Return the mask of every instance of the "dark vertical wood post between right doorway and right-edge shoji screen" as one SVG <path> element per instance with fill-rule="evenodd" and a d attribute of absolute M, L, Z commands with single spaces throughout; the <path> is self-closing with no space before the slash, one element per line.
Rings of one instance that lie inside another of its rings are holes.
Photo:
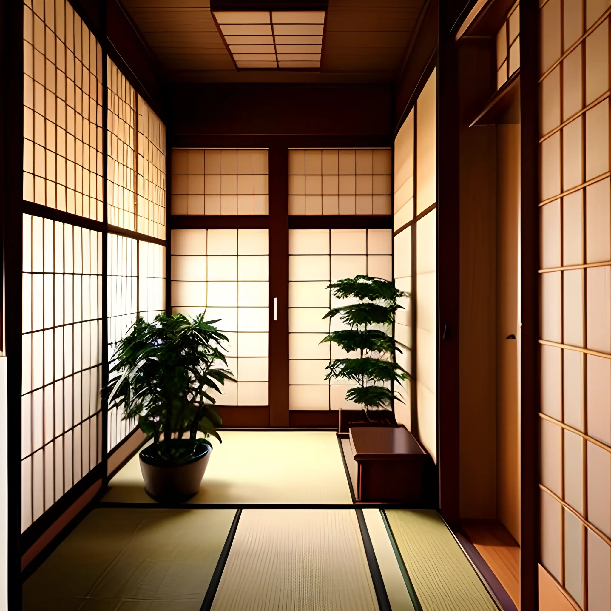
<path fill-rule="evenodd" d="M 520 608 L 539 604 L 539 9 L 520 4 Z"/>

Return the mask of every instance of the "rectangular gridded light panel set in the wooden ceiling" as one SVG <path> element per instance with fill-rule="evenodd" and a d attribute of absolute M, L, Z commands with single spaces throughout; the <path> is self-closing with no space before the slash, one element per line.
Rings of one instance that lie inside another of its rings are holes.
<path fill-rule="evenodd" d="M 320 68 L 324 10 L 219 10 L 212 14 L 240 70 Z"/>

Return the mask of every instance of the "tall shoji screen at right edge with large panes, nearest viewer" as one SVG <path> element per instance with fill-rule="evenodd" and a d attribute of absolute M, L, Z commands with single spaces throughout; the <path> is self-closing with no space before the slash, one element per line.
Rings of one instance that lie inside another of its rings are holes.
<path fill-rule="evenodd" d="M 541 5 L 541 564 L 611 608 L 609 8 Z"/>

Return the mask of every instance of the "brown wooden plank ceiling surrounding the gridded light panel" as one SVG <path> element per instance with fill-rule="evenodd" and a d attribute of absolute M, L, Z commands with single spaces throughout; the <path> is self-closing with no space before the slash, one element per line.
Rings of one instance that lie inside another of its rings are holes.
<path fill-rule="evenodd" d="M 424 0 L 329 0 L 319 71 L 236 70 L 209 0 L 123 0 L 170 81 L 390 82 Z"/>

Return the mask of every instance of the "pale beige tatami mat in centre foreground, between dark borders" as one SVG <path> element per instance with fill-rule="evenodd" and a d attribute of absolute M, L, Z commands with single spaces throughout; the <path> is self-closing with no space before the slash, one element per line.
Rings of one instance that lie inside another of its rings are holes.
<path fill-rule="evenodd" d="M 212 611 L 376 611 L 354 510 L 251 509 Z"/>

